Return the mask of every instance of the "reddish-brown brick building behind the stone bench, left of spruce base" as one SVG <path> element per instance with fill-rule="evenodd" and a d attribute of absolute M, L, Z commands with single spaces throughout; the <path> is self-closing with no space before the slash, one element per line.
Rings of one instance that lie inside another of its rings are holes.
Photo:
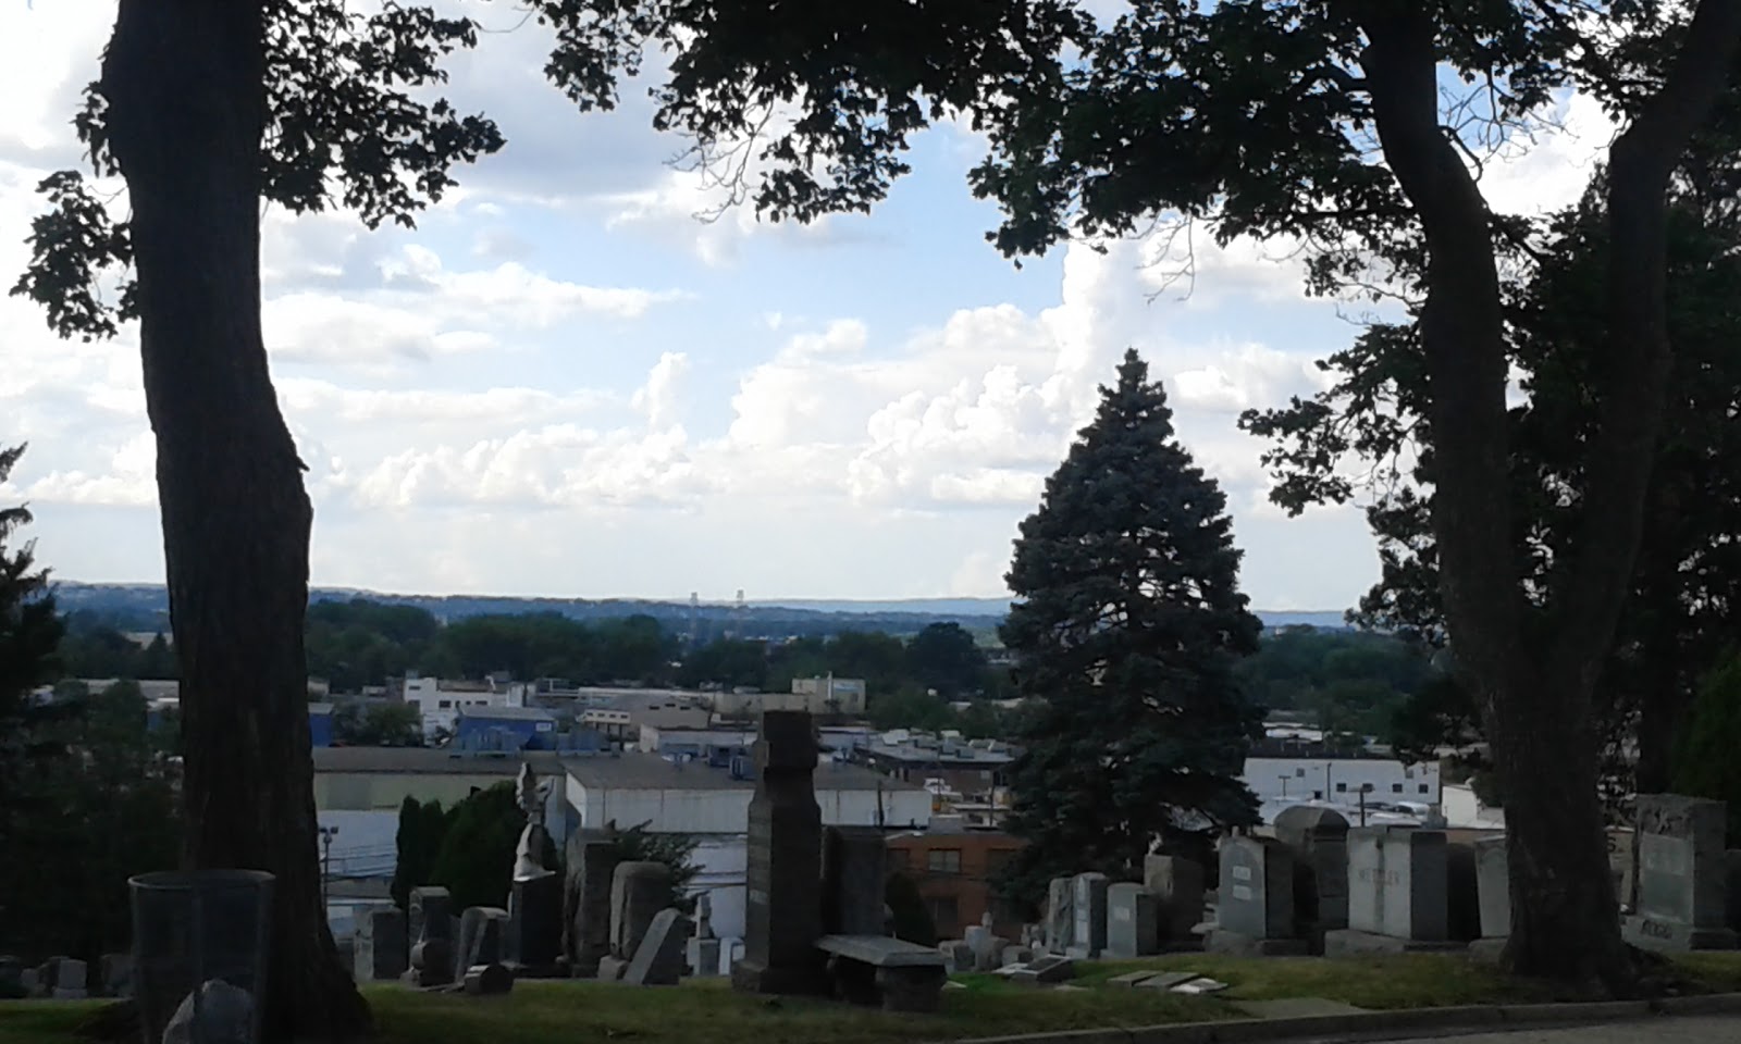
<path fill-rule="evenodd" d="M 937 938 L 959 940 L 989 910 L 992 931 L 1020 941 L 1022 919 L 994 900 L 991 880 L 1025 844 L 992 830 L 893 833 L 888 839 L 890 868 L 919 886 Z"/>

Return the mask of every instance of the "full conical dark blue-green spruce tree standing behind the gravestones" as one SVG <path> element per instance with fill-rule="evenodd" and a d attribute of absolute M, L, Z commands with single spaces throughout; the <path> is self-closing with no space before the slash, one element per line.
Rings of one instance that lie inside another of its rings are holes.
<path fill-rule="evenodd" d="M 1003 880 L 1139 877 L 1158 846 L 1257 821 L 1240 781 L 1262 713 L 1233 677 L 1260 625 L 1240 593 L 1226 498 L 1173 437 L 1135 350 L 1022 522 L 1003 642 L 1034 699 L 1012 766 Z"/>

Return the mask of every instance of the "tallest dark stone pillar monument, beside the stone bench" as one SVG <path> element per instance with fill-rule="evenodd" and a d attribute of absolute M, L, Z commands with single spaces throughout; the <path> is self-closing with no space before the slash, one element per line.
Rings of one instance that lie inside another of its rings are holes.
<path fill-rule="evenodd" d="M 822 809 L 817 736 L 801 710 L 768 710 L 756 740 L 749 816 L 743 960 L 731 985 L 752 994 L 818 994 L 829 981 L 822 938 Z"/>

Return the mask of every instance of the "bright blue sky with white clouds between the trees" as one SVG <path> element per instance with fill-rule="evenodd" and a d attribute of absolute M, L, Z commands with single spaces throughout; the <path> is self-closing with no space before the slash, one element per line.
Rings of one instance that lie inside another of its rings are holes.
<path fill-rule="evenodd" d="M 1109 3 L 1102 3 L 1107 7 Z M 1017 524 L 1135 346 L 1180 440 L 1220 482 L 1254 607 L 1344 609 L 1377 578 L 1356 506 L 1267 501 L 1248 407 L 1321 388 L 1358 308 L 1307 299 L 1278 245 L 1200 237 L 1189 292 L 1161 240 L 1069 244 L 1017 270 L 984 242 L 984 143 L 926 132 L 870 216 L 771 224 L 670 165 L 644 84 L 578 115 L 548 40 L 501 5 L 447 96 L 507 148 L 416 230 L 265 212 L 265 336 L 315 503 L 312 578 L 404 593 L 752 600 L 1003 597 Z M 1112 5 L 1116 7 L 1116 5 Z M 0 5 L 0 285 L 28 258 L 44 174 L 113 3 Z M 512 30 L 512 31 L 508 31 Z M 1610 127 L 1483 171 L 1496 209 L 1572 202 Z M 118 188 L 118 186 L 117 186 Z M 125 197 L 117 195 L 117 212 Z M 1173 251 L 1179 247 L 1175 245 Z M 1177 258 L 1177 254 L 1173 254 Z M 160 581 L 138 329 L 64 343 L 0 299 L 0 503 L 59 579 Z"/>

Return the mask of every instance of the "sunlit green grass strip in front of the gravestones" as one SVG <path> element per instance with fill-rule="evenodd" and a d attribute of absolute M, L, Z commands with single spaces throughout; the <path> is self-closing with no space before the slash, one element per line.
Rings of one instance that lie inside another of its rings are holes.
<path fill-rule="evenodd" d="M 1697 954 L 1682 969 L 1710 990 L 1741 990 L 1741 954 Z M 1137 969 L 1194 971 L 1229 983 L 1219 997 L 1186 997 L 1107 985 Z M 677 1044 L 733 1039 L 752 1044 L 912 1044 L 1005 1034 L 1241 1018 L 1240 1000 L 1323 997 L 1360 1007 L 1555 1000 L 1551 990 L 1508 980 L 1457 955 L 1240 959 L 1177 954 L 1151 960 L 1079 966 L 1086 990 L 1034 990 L 991 974 L 958 976 L 940 1014 L 884 1014 L 823 1000 L 768 1000 L 733 992 L 724 980 L 679 988 L 587 981 L 522 981 L 507 997 L 425 995 L 369 987 L 381 1044 L 573 1044 L 625 1041 Z M 70 1041 L 71 1027 L 99 1002 L 0 1002 L 0 1044 Z"/>

